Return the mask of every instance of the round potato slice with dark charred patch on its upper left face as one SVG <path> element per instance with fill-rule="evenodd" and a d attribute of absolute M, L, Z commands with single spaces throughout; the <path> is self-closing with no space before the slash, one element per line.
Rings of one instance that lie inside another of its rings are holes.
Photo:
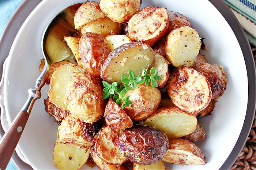
<path fill-rule="evenodd" d="M 191 67 L 178 67 L 170 74 L 167 92 L 175 106 L 196 114 L 211 101 L 211 87 L 206 77 Z"/>

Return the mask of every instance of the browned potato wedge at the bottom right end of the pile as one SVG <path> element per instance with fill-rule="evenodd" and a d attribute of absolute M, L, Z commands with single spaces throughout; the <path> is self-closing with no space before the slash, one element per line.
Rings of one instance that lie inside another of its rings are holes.
<path fill-rule="evenodd" d="M 180 165 L 204 165 L 206 157 L 199 147 L 186 139 L 170 139 L 169 149 L 162 159 Z"/>

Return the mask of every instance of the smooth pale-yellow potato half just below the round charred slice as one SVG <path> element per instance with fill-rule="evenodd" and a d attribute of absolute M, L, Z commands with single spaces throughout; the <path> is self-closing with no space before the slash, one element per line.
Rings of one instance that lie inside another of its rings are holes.
<path fill-rule="evenodd" d="M 191 134 L 196 128 L 197 119 L 176 107 L 165 106 L 157 109 L 143 124 L 156 127 L 172 139 Z"/>

